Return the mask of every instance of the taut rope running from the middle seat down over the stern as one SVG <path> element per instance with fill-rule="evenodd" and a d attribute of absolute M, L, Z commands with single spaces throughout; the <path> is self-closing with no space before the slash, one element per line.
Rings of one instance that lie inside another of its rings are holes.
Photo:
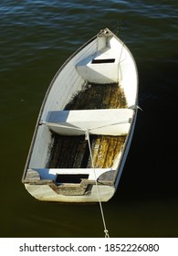
<path fill-rule="evenodd" d="M 99 194 L 99 187 L 98 187 L 98 183 L 97 183 L 97 176 L 96 176 L 95 166 L 94 166 L 94 162 L 93 162 L 93 156 L 92 156 L 92 153 L 91 153 L 91 146 L 90 146 L 90 140 L 89 140 L 89 130 L 86 130 L 86 132 L 85 132 L 85 139 L 88 141 L 88 144 L 89 144 L 89 154 L 90 154 L 90 157 L 91 157 L 91 164 L 92 164 L 92 168 L 93 168 L 94 175 L 95 175 L 95 184 L 96 184 L 96 187 L 97 187 L 97 193 L 98 193 L 98 197 L 99 197 L 99 208 L 100 208 L 100 213 L 101 213 L 102 222 L 103 222 L 103 226 L 104 226 L 105 238 L 110 238 L 109 231 L 106 227 L 106 222 L 105 222 L 105 218 L 104 218 L 102 204 L 101 204 L 101 201 L 100 201 L 100 194 Z"/>

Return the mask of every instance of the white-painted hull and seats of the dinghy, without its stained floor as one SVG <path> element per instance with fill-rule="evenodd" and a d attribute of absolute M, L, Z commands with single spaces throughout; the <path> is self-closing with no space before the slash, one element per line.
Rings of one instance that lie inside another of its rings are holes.
<path fill-rule="evenodd" d="M 70 74 L 68 76 L 68 73 Z M 65 106 L 86 84 L 118 83 L 127 108 L 64 111 Z M 137 115 L 138 76 L 130 50 L 109 29 L 79 48 L 58 70 L 42 104 L 22 182 L 39 200 L 88 203 L 113 197 L 126 161 Z M 120 153 L 110 168 L 52 168 L 47 166 L 53 145 L 52 134 L 126 136 Z M 57 182 L 57 176 L 84 176 L 81 182 Z M 112 180 L 106 177 L 112 175 Z M 88 176 L 86 178 L 86 176 Z M 97 189 L 98 187 L 98 189 Z M 99 191 L 99 193 L 98 193 Z"/>

